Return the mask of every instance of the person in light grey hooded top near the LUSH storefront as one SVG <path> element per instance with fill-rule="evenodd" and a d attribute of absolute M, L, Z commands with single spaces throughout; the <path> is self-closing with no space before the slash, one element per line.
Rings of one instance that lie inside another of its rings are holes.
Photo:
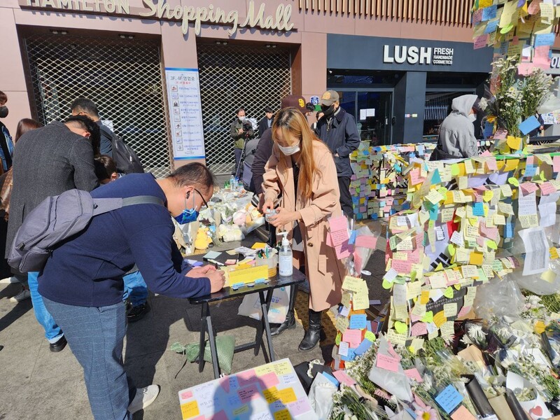
<path fill-rule="evenodd" d="M 451 113 L 443 120 L 440 137 L 430 160 L 472 158 L 478 155 L 475 126 L 479 97 L 463 94 L 453 99 Z"/>

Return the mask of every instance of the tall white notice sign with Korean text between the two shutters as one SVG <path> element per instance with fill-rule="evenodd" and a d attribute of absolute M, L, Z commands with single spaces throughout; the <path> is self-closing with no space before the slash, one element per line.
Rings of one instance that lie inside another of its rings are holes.
<path fill-rule="evenodd" d="M 204 159 L 198 69 L 165 69 L 174 160 Z"/>

